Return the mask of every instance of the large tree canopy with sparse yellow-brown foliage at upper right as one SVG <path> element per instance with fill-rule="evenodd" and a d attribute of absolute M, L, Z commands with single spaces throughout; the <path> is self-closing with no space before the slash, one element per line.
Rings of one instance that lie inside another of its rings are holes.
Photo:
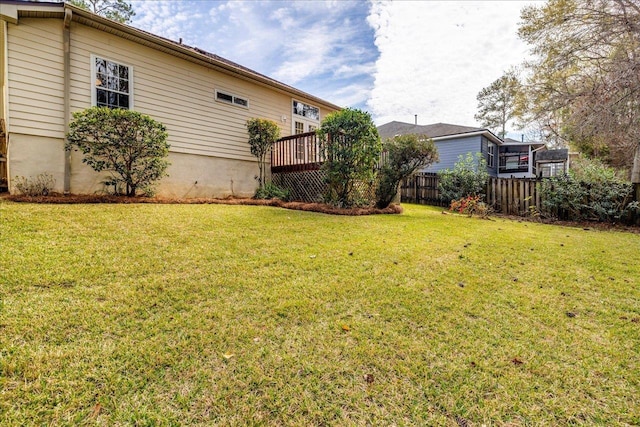
<path fill-rule="evenodd" d="M 550 0 L 522 11 L 527 120 L 640 182 L 640 4 Z M 635 159 L 635 161 L 634 161 Z"/>

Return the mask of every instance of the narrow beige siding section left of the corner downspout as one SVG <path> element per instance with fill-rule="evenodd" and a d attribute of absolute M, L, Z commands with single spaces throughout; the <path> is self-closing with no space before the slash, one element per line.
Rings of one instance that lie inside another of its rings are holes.
<path fill-rule="evenodd" d="M 8 24 L 8 120 L 11 132 L 64 137 L 62 21 Z"/>

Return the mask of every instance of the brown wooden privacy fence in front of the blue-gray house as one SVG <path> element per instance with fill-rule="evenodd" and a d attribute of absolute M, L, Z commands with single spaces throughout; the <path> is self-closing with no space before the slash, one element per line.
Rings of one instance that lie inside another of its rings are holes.
<path fill-rule="evenodd" d="M 436 173 L 420 173 L 402 183 L 403 202 L 444 206 L 438 191 Z M 525 215 L 534 207 L 540 210 L 540 180 L 535 178 L 489 178 L 486 202 L 496 212 Z"/>

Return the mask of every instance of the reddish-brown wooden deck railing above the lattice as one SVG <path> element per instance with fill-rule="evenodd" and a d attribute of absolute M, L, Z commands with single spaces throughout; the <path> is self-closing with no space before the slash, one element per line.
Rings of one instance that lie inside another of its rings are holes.
<path fill-rule="evenodd" d="M 317 170 L 323 162 L 315 132 L 280 138 L 271 149 L 271 173 Z"/>

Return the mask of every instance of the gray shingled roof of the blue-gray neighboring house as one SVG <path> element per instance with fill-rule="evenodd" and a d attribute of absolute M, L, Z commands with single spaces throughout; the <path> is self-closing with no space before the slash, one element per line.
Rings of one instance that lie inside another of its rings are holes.
<path fill-rule="evenodd" d="M 448 123 L 434 123 L 431 125 L 415 125 L 403 122 L 389 122 L 378 126 L 378 133 L 382 139 L 393 138 L 396 135 L 416 134 L 426 135 L 438 141 L 461 136 L 483 135 L 492 142 L 501 145 L 503 141 L 490 130 L 472 126 L 452 125 Z"/>

